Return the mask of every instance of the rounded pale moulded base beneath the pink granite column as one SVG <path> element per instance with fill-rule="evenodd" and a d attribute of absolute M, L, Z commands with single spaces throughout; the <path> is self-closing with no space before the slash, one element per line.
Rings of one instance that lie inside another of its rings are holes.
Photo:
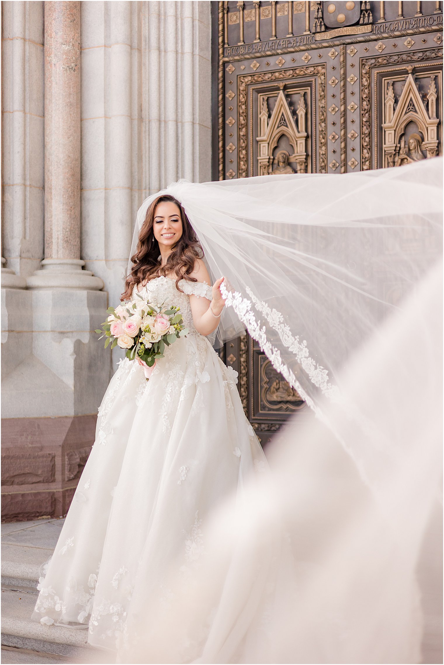
<path fill-rule="evenodd" d="M 104 287 L 100 277 L 89 270 L 82 270 L 85 262 L 80 259 L 44 259 L 43 269 L 28 277 L 29 289 L 83 289 L 100 291 Z"/>

